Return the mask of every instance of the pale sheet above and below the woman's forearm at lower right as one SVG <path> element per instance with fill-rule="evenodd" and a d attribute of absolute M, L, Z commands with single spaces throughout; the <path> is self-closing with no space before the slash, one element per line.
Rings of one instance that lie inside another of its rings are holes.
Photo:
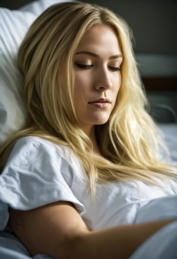
<path fill-rule="evenodd" d="M 176 195 L 149 202 L 138 212 L 135 224 L 170 218 L 177 218 Z M 164 226 L 144 241 L 129 258 L 177 258 L 177 221 Z"/>

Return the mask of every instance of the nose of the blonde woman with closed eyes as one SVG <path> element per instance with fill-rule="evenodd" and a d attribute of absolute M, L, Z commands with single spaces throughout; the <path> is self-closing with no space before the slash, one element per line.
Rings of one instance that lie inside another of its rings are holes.
<path fill-rule="evenodd" d="M 107 68 L 100 68 L 100 71 L 96 73 L 96 84 L 95 88 L 99 91 L 106 91 L 112 88 L 112 82 L 109 76 Z"/>

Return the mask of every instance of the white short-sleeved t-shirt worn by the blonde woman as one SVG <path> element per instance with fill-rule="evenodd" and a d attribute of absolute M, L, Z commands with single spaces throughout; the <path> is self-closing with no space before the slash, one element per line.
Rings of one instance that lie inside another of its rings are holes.
<path fill-rule="evenodd" d="M 144 182 L 116 182 L 96 186 L 96 198 L 77 158 L 64 146 L 39 137 L 24 137 L 14 145 L 0 175 L 0 230 L 8 222 L 8 206 L 34 209 L 55 201 L 69 201 L 91 230 L 135 223 L 137 213 L 151 200 L 177 194 L 164 181 L 160 188 Z"/>

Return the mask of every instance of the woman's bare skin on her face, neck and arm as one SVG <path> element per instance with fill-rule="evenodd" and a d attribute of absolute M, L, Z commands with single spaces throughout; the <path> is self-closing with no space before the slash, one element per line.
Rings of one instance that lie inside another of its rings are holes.
<path fill-rule="evenodd" d="M 93 141 L 94 151 L 100 154 L 94 135 L 96 124 L 106 123 L 114 108 L 121 85 L 121 73 L 111 67 L 120 67 L 117 36 L 104 25 L 92 27 L 81 40 L 77 52 L 91 51 L 99 55 L 75 56 L 75 100 L 79 124 Z M 77 64 L 93 65 L 85 70 Z M 90 102 L 108 97 L 107 108 L 98 108 Z M 69 202 L 58 201 L 45 206 L 19 211 L 9 208 L 9 225 L 32 256 L 47 254 L 54 258 L 128 258 L 150 235 L 173 220 L 122 225 L 91 231 Z"/>

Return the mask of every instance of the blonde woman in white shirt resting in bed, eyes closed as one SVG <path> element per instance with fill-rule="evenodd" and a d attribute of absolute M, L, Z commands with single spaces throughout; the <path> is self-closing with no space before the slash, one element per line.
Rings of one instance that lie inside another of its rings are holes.
<path fill-rule="evenodd" d="M 1 148 L 0 197 L 30 254 L 128 258 L 173 224 L 153 210 L 140 220 L 176 197 L 176 169 L 159 161 L 127 24 L 95 5 L 52 6 L 18 67 L 29 119 Z"/>

